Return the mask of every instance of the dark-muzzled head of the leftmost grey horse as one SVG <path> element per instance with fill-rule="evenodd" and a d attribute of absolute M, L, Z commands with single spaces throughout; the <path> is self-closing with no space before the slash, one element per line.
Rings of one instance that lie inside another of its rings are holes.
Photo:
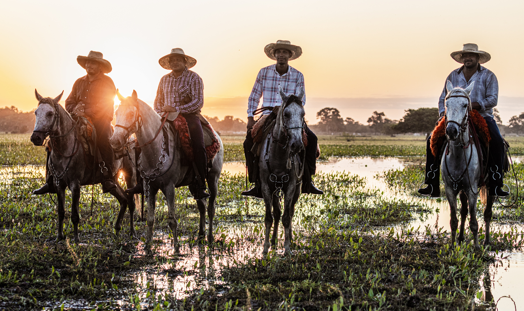
<path fill-rule="evenodd" d="M 42 146 L 43 142 L 46 140 L 46 137 L 54 131 L 54 128 L 58 127 L 58 114 L 59 107 L 58 102 L 63 95 L 60 93 L 55 98 L 51 97 L 42 97 L 35 88 L 35 96 L 38 99 L 38 108 L 35 110 L 35 129 L 31 135 L 31 142 L 35 146 Z"/>

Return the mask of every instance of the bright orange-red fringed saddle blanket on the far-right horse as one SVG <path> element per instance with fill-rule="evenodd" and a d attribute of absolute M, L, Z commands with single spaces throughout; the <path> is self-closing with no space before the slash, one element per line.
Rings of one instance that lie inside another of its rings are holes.
<path fill-rule="evenodd" d="M 489 135 L 489 128 L 486 124 L 486 120 L 477 112 L 477 110 L 472 110 L 470 112 L 470 120 L 475 126 L 475 130 L 478 135 L 478 139 L 482 141 L 483 145 L 487 147 L 489 141 L 491 141 L 491 136 Z M 439 153 L 439 150 L 444 145 L 446 140 L 446 119 L 442 118 L 437 126 L 431 132 L 430 148 L 433 156 Z"/>

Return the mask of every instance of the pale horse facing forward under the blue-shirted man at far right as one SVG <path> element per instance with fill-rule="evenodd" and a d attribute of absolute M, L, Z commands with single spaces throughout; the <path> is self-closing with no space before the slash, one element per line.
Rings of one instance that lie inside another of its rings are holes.
<path fill-rule="evenodd" d="M 478 243 L 478 222 L 477 222 L 477 190 L 481 179 L 482 163 L 481 158 L 474 148 L 473 137 L 468 126 L 469 113 L 472 109 L 470 94 L 475 82 L 465 89 L 453 87 L 447 81 L 445 97 L 446 107 L 446 152 L 442 156 L 442 180 L 444 181 L 447 201 L 451 208 L 451 243 L 455 242 L 456 230 L 459 224 L 457 219 L 457 201 L 459 194 L 461 207 L 461 226 L 457 242 L 464 241 L 464 224 L 468 210 L 470 212 L 470 230 L 473 233 L 475 248 L 480 249 Z M 484 209 L 484 221 L 486 234 L 484 246 L 489 245 L 489 225 L 492 218 L 493 196 L 487 195 L 487 186 L 481 188 L 481 195 L 486 197 Z"/>

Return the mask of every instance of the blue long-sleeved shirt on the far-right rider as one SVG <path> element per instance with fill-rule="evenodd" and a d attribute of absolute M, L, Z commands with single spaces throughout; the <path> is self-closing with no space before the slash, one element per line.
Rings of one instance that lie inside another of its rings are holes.
<path fill-rule="evenodd" d="M 440 115 L 442 115 L 445 110 L 444 98 L 446 97 L 447 93 L 447 80 L 453 84 L 453 87 L 460 86 L 462 88 L 466 88 L 473 81 L 475 81 L 475 86 L 473 87 L 473 91 L 471 91 L 470 94 L 471 102 L 477 102 L 479 105 L 481 105 L 482 109 L 478 110 L 478 113 L 481 114 L 481 116 L 493 118 L 493 107 L 497 106 L 498 101 L 497 77 L 492 71 L 484 68 L 479 64 L 477 71 L 471 76 L 470 81 L 466 82 L 464 72 L 462 72 L 463 69 L 464 66 L 453 70 L 450 75 L 447 76 L 446 82 L 444 83 L 444 90 L 442 91 L 439 99 Z"/>

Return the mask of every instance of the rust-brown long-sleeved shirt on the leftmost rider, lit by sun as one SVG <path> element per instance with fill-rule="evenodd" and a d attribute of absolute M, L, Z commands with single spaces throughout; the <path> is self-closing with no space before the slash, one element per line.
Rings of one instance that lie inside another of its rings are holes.
<path fill-rule="evenodd" d="M 72 113 L 78 104 L 84 104 L 84 113 L 87 116 L 111 122 L 115 94 L 115 84 L 109 76 L 101 74 L 89 82 L 88 76 L 85 75 L 74 82 L 71 94 L 65 99 L 65 109 Z"/>

